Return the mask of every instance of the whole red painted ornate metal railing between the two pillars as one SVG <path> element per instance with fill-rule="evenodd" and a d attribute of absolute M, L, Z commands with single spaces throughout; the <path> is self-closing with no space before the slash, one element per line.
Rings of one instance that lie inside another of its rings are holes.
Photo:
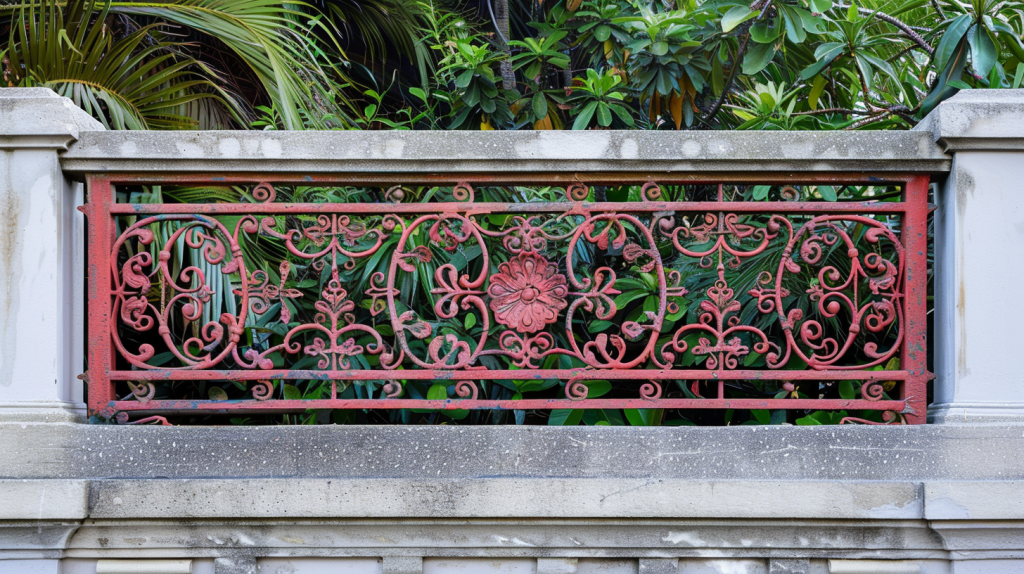
<path fill-rule="evenodd" d="M 847 184 L 870 191 L 819 198 Z M 193 192 L 131 203 L 170 185 Z M 927 193 L 926 176 L 93 176 L 90 411 L 923 423 Z"/>

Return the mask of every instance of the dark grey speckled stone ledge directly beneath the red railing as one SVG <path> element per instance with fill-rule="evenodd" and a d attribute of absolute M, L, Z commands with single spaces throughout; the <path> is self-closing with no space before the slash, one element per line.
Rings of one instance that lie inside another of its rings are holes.
<path fill-rule="evenodd" d="M 0 424 L 0 478 L 1024 480 L 1024 426 Z"/>

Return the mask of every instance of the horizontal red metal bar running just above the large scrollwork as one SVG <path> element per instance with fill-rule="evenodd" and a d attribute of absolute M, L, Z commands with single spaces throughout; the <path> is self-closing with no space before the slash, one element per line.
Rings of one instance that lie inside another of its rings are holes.
<path fill-rule="evenodd" d="M 565 213 L 575 208 L 588 212 L 729 212 L 729 213 L 882 213 L 898 214 L 907 210 L 902 202 L 601 202 L 488 204 L 481 202 L 438 204 L 115 204 L 113 215 L 155 214 L 420 214 L 420 213 Z"/>

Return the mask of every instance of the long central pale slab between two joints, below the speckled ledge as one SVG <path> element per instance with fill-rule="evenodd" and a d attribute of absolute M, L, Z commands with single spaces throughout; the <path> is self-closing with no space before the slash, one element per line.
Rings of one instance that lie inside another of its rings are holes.
<path fill-rule="evenodd" d="M 799 496 L 782 496 L 799 490 Z M 144 500 L 144 503 L 139 501 Z M 911 482 L 673 479 L 202 479 L 92 481 L 93 519 L 920 519 Z"/>

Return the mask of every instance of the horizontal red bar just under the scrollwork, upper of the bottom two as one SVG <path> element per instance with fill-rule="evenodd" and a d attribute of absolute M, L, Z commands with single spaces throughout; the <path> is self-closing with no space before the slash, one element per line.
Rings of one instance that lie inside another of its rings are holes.
<path fill-rule="evenodd" d="M 519 369 L 519 370 L 112 370 L 112 381 L 906 381 L 906 370 L 708 370 L 708 369 Z"/>

